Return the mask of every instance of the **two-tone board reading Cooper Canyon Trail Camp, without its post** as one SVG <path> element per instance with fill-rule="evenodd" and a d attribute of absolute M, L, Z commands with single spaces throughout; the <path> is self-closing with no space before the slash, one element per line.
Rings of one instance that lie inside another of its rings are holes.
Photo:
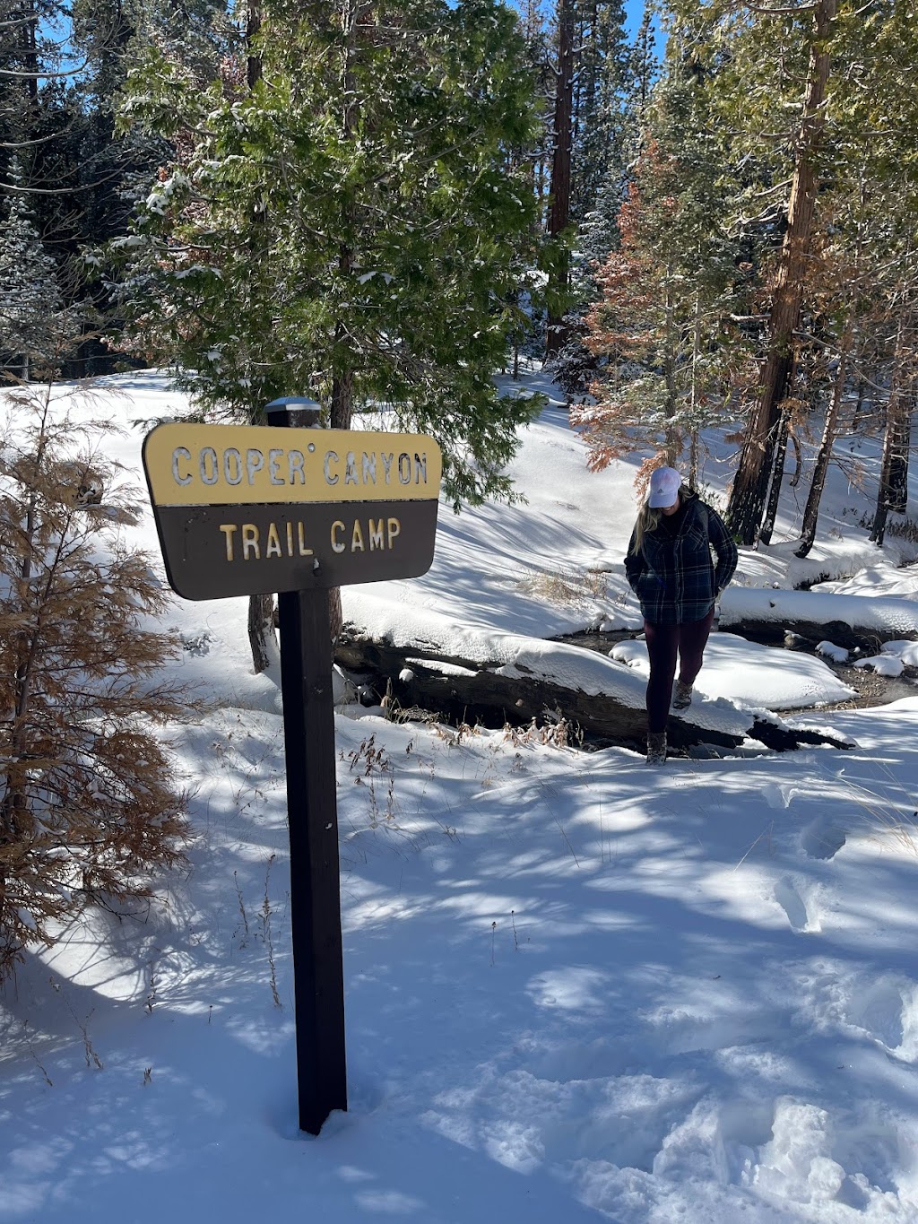
<path fill-rule="evenodd" d="M 441 455 L 425 435 L 159 425 L 143 464 L 188 600 L 416 578 L 433 559 Z"/>

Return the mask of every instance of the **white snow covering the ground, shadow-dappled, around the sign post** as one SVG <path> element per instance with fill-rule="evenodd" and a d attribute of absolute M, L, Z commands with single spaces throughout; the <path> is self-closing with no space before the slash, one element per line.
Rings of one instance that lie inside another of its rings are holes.
<path fill-rule="evenodd" d="M 136 375 L 106 379 L 103 406 L 126 424 L 182 401 Z M 106 442 L 138 480 L 142 433 Z M 622 569 L 634 466 L 589 474 L 556 400 L 513 471 L 526 504 L 442 508 L 431 572 L 346 588 L 345 616 L 639 706 L 640 643 L 606 657 L 547 641 L 639 627 Z M 728 474 L 711 439 L 715 502 Z M 723 622 L 750 605 L 793 617 L 809 595 L 826 623 L 863 624 L 883 601 L 900 628 L 858 662 L 913 666 L 914 550 L 869 545 L 868 510 L 835 470 L 802 562 L 788 504 L 776 543 L 742 553 Z M 136 536 L 157 550 L 152 518 Z M 851 695 L 831 640 L 824 661 L 723 632 L 699 718 L 805 707 L 856 747 L 745 743 L 663 769 L 341 706 L 349 1109 L 312 1138 L 296 1126 L 279 684 L 252 674 L 245 618 L 242 600 L 177 599 L 165 617 L 187 646 L 176 672 L 209 701 L 173 728 L 190 870 L 7 987 L 0 1220 L 918 1219 L 918 695 L 821 710 Z"/>

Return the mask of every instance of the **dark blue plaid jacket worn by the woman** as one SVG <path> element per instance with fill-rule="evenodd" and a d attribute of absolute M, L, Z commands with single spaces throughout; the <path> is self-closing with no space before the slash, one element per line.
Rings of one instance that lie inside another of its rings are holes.
<path fill-rule="evenodd" d="M 698 493 L 685 496 L 674 536 L 663 526 L 647 531 L 634 551 L 632 532 L 624 572 L 650 624 L 689 624 L 707 616 L 737 568 L 737 546 L 723 520 Z M 715 569 L 711 550 L 716 553 Z"/>

